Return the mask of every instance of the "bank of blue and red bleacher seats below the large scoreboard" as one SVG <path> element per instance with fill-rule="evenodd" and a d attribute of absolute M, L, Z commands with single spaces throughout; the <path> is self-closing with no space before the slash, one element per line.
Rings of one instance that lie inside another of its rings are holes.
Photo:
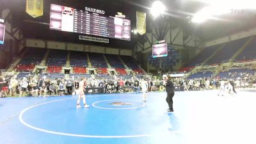
<path fill-rule="evenodd" d="M 72 73 L 74 74 L 86 74 L 88 72 L 88 56 L 92 67 L 96 68 L 97 74 L 102 74 L 102 76 L 108 76 L 108 66 L 116 70 L 116 73 L 120 76 L 127 75 L 126 67 L 124 63 L 127 64 L 136 74 L 144 74 L 144 71 L 138 67 L 136 62 L 131 56 L 121 56 L 120 60 L 118 55 L 106 54 L 106 59 L 103 54 L 99 53 L 87 53 L 87 52 L 77 52 L 58 50 L 58 49 L 40 49 L 40 48 L 26 48 L 27 52 L 24 54 L 23 58 L 19 61 L 19 65 L 16 66 L 16 70 L 20 72 L 31 72 L 36 65 L 40 65 L 42 60 L 45 58 L 46 72 L 48 74 L 54 74 L 52 77 L 61 77 L 59 75 L 63 73 L 63 67 L 67 65 L 67 60 L 70 62 L 72 67 Z M 49 53 L 47 52 L 49 51 Z M 45 55 L 47 54 L 47 55 Z M 109 65 L 107 61 L 109 62 Z M 68 65 L 69 65 L 68 64 Z M 22 75 L 23 76 L 23 75 Z"/>

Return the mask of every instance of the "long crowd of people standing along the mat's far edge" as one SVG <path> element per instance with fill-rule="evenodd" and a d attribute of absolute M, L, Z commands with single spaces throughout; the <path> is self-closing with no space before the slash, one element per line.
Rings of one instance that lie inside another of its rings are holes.
<path fill-rule="evenodd" d="M 47 77 L 27 76 L 17 79 L 15 76 L 0 78 L 1 97 L 6 96 L 35 96 L 47 97 L 49 95 L 77 95 L 79 82 L 83 77 L 49 79 Z M 253 76 L 238 77 L 237 79 L 184 79 L 172 78 L 175 90 L 214 90 L 220 89 L 221 81 L 234 85 L 236 88 L 256 88 Z M 90 77 L 86 79 L 86 88 L 104 88 L 103 93 L 141 92 L 142 84 L 147 83 L 147 92 L 164 91 L 166 79 L 153 79 L 152 77 L 122 77 L 102 78 Z"/>

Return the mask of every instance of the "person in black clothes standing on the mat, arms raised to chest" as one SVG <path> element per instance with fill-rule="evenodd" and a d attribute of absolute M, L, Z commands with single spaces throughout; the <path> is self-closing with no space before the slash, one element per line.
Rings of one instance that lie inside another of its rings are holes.
<path fill-rule="evenodd" d="M 166 82 L 166 92 L 167 92 L 167 97 L 166 97 L 166 102 L 169 105 L 169 109 L 167 110 L 168 112 L 173 112 L 173 96 L 174 96 L 174 84 L 171 81 L 171 76 L 167 75 L 167 82 Z"/>

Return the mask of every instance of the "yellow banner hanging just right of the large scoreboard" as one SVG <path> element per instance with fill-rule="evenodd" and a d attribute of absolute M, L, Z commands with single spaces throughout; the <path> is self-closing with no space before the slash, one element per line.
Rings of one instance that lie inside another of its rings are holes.
<path fill-rule="evenodd" d="M 146 16 L 147 13 L 137 12 L 137 31 L 140 35 L 144 35 L 146 33 Z"/>

